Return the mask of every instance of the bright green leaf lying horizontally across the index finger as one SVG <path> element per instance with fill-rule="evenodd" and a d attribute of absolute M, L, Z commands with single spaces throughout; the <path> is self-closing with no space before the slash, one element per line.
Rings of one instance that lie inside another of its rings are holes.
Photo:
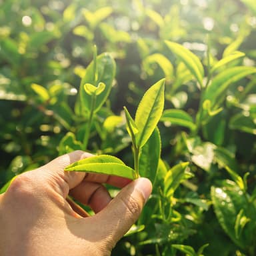
<path fill-rule="evenodd" d="M 84 171 L 136 179 L 135 171 L 131 167 L 111 155 L 97 155 L 79 160 L 66 167 L 65 171 Z"/>

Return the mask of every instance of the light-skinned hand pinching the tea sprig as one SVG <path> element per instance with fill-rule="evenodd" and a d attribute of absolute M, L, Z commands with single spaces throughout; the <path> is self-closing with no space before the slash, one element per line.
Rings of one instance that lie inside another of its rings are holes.
<path fill-rule="evenodd" d="M 117 241 L 135 223 L 151 193 L 148 179 L 63 171 L 89 157 L 74 151 L 28 171 L 0 195 L 1 256 L 111 255 Z M 120 187 L 111 199 L 102 183 Z M 68 195 L 89 205 L 87 213 Z"/>

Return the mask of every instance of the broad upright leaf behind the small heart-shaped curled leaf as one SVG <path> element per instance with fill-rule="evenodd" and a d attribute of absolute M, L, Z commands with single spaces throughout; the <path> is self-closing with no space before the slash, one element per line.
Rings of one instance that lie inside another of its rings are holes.
<path fill-rule="evenodd" d="M 108 53 L 103 53 L 97 56 L 97 70 L 98 76 L 97 81 L 95 83 L 95 73 L 94 73 L 94 64 L 93 61 L 89 64 L 85 71 L 85 76 L 81 80 L 81 86 L 79 90 L 80 95 L 80 103 L 81 109 L 80 114 L 85 115 L 91 109 L 91 95 L 88 95 L 85 90 L 83 89 L 83 85 L 85 83 L 90 83 L 91 85 L 97 85 L 99 83 L 105 84 L 104 91 L 97 95 L 96 102 L 95 102 L 95 112 L 99 111 L 101 106 L 105 103 L 109 93 L 111 91 L 113 79 L 115 77 L 115 61 Z"/>

